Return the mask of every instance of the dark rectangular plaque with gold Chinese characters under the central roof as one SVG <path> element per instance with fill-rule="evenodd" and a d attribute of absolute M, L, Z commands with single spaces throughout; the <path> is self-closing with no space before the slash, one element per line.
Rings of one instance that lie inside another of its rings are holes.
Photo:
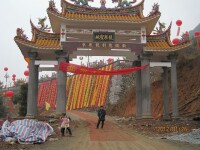
<path fill-rule="evenodd" d="M 114 32 L 93 32 L 94 42 L 114 42 L 115 33 Z"/>

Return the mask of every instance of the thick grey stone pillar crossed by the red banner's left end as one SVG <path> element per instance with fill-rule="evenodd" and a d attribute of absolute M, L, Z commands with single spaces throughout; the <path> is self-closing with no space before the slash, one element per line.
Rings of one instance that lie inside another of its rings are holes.
<path fill-rule="evenodd" d="M 56 52 L 58 59 L 58 66 L 60 62 L 66 62 L 67 53 L 58 51 Z M 66 72 L 61 70 L 57 71 L 57 94 L 56 94 L 56 113 L 66 112 Z"/>

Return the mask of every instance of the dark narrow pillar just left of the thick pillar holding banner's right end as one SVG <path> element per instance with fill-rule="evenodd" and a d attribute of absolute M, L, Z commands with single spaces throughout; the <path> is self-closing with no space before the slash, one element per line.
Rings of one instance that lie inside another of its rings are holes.
<path fill-rule="evenodd" d="M 135 61 L 135 66 L 141 66 L 141 61 Z M 136 71 L 136 119 L 142 119 L 142 78 L 141 70 Z"/>

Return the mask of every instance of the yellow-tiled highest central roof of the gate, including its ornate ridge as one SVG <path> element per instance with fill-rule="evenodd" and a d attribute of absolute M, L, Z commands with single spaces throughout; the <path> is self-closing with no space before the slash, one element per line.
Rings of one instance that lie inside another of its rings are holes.
<path fill-rule="evenodd" d="M 108 20 L 108 21 L 140 21 L 154 17 L 154 15 L 160 15 L 160 12 L 154 15 L 144 17 L 143 16 L 143 3 L 142 0 L 135 6 L 125 8 L 107 8 L 100 9 L 94 7 L 85 7 L 80 5 L 71 4 L 65 0 L 62 0 L 63 8 L 59 13 L 57 9 L 48 8 L 48 11 L 56 16 L 64 17 L 66 19 L 81 19 L 81 20 Z"/>

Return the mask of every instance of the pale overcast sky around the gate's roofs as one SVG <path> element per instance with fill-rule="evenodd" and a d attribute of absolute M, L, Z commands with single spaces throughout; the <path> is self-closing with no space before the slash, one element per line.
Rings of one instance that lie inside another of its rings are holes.
<path fill-rule="evenodd" d="M 2 0 L 1 1 L 1 21 L 0 21 L 0 81 L 5 84 L 4 67 L 8 67 L 11 82 L 12 74 L 16 78 L 25 78 L 24 71 L 27 63 L 24 60 L 19 48 L 13 38 L 16 29 L 23 28 L 25 34 L 31 39 L 30 19 L 37 25 L 38 18 L 47 16 L 46 9 L 49 0 Z M 60 10 L 60 0 L 54 0 Z M 94 0 L 98 6 L 100 0 Z M 110 1 L 110 2 L 109 2 Z M 160 5 L 161 22 L 168 26 L 172 21 L 172 37 L 176 36 L 176 20 L 182 20 L 181 33 L 194 29 L 200 23 L 200 0 L 145 0 L 144 15 L 146 16 L 152 9 L 152 5 Z M 106 7 L 112 7 L 111 0 L 107 0 Z"/>

